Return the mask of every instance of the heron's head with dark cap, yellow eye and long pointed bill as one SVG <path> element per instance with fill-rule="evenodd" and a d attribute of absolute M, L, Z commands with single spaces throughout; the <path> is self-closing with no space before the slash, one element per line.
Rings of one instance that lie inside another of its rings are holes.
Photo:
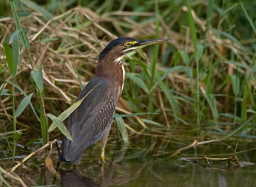
<path fill-rule="evenodd" d="M 115 59 L 120 58 L 133 50 L 146 47 L 148 45 L 153 45 L 156 43 L 162 43 L 169 41 L 168 39 L 151 39 L 151 40 L 136 40 L 135 38 L 116 38 L 112 40 L 102 52 L 99 54 L 100 59 L 104 59 L 106 56 L 114 57 Z M 115 59 L 113 59 L 115 61 Z"/>

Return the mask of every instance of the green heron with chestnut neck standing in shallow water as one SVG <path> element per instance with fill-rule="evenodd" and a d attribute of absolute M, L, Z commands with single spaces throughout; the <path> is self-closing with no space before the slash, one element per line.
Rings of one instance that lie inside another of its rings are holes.
<path fill-rule="evenodd" d="M 98 56 L 96 76 L 84 87 L 77 101 L 86 96 L 79 107 L 68 116 L 67 129 L 72 140 L 63 137 L 60 161 L 78 164 L 83 151 L 102 138 L 100 161 L 104 162 L 104 149 L 115 114 L 116 103 L 124 87 L 124 65 L 121 60 L 133 50 L 168 39 L 136 40 L 116 38 Z"/>

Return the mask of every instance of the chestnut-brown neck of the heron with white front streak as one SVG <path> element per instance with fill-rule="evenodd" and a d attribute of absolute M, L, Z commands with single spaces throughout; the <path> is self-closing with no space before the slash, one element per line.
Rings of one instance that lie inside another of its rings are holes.
<path fill-rule="evenodd" d="M 123 57 L 123 56 L 122 56 Z M 96 67 L 96 76 L 107 79 L 111 85 L 114 86 L 116 93 L 116 101 L 120 97 L 124 88 L 124 65 L 121 60 L 122 57 L 105 56 L 104 60 L 99 59 Z"/>

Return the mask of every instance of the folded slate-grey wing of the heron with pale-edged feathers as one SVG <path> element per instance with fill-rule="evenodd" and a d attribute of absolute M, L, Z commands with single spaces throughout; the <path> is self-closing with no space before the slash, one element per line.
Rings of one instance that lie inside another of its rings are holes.
<path fill-rule="evenodd" d="M 81 105 L 67 119 L 72 141 L 64 136 L 60 160 L 72 162 L 80 157 L 80 161 L 84 149 L 99 140 L 112 123 L 116 101 L 107 80 L 100 77 L 90 80 L 77 100 L 84 96 Z"/>

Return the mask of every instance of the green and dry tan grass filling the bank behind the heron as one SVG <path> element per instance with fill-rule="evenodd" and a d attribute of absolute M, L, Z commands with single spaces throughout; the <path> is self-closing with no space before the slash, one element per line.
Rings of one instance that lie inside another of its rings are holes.
<path fill-rule="evenodd" d="M 16 128 L 25 126 L 29 141 L 42 138 L 45 144 L 48 135 L 50 140 L 61 138 L 59 131 L 48 133 L 48 116 L 54 119 L 76 100 L 81 87 L 95 75 L 97 55 L 117 36 L 172 40 L 124 58 L 127 74 L 117 113 L 146 114 L 124 121 L 118 118 L 120 129 L 127 123 L 138 131 L 155 127 L 165 131 L 186 124 L 199 130 L 214 126 L 221 138 L 230 137 L 224 131 L 253 135 L 256 13 L 249 1 L 207 3 L 45 1 L 38 5 L 24 0 L 16 12 L 15 4 L 10 8 L 12 3 L 4 1 L 0 6 L 6 7 L 0 11 L 0 117 L 7 131 L 14 127 L 13 142 L 22 139 L 15 136 Z M 12 36 L 8 54 L 3 42 Z M 6 63 L 10 56 L 16 71 Z M 15 116 L 21 101 L 31 93 L 26 106 L 35 110 L 24 106 L 20 116 Z M 233 124 L 238 127 L 232 128 Z M 35 133 L 40 126 L 41 131 Z"/>

